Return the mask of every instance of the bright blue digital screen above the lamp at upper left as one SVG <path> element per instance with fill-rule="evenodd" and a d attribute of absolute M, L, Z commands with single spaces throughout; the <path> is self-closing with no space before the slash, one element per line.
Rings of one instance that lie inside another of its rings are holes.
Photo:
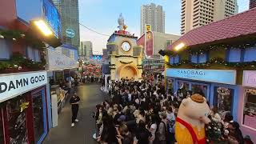
<path fill-rule="evenodd" d="M 58 9 L 50 0 L 42 0 L 42 10 L 46 22 L 48 22 L 52 30 L 54 30 L 54 35 L 60 38 L 62 34 L 62 23 Z"/>

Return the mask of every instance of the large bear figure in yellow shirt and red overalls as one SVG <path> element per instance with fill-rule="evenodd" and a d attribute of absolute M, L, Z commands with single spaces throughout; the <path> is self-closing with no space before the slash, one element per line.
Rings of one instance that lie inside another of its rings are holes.
<path fill-rule="evenodd" d="M 208 114 L 210 114 L 210 108 L 202 95 L 193 94 L 190 98 L 183 99 L 175 123 L 177 142 L 205 143 L 205 124 L 210 122 Z"/>

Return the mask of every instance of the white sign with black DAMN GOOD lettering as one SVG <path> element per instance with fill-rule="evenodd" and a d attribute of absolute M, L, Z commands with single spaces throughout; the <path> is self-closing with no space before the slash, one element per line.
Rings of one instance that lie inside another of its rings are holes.
<path fill-rule="evenodd" d="M 0 74 L 0 102 L 46 85 L 46 71 Z"/>

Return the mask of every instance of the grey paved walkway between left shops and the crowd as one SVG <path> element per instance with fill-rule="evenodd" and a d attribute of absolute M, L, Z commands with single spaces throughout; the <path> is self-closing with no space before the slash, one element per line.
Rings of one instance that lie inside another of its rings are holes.
<path fill-rule="evenodd" d="M 79 122 L 74 127 L 70 126 L 71 111 L 69 103 L 62 109 L 58 118 L 58 126 L 50 130 L 43 144 L 94 144 L 92 138 L 95 125 L 92 112 L 96 104 L 104 101 L 105 94 L 100 90 L 100 85 L 86 84 L 78 86 L 78 96 L 81 98 L 78 111 Z"/>

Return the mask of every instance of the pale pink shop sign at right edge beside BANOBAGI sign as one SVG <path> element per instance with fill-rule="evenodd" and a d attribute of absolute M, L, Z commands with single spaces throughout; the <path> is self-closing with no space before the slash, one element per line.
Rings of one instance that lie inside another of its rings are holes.
<path fill-rule="evenodd" d="M 256 87 L 256 70 L 244 70 L 242 86 Z"/>

